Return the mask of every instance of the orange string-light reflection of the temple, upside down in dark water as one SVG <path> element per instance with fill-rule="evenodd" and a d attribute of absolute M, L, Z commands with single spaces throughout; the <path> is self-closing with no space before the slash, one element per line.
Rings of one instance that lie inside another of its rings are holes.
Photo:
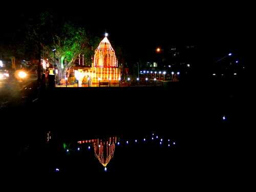
<path fill-rule="evenodd" d="M 94 147 L 95 157 L 105 167 L 114 156 L 115 144 L 118 142 L 117 137 L 109 137 L 108 139 L 90 139 L 78 141 L 79 144 L 92 143 Z"/>

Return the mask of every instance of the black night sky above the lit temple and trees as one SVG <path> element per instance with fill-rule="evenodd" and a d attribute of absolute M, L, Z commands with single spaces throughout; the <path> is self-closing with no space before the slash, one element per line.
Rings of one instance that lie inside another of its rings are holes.
<path fill-rule="evenodd" d="M 249 40 L 250 12 L 246 7 L 233 2 L 180 4 L 98 2 L 97 5 L 71 4 L 70 9 L 67 9 L 67 3 L 58 2 L 44 3 L 39 8 L 34 4 L 20 4 L 13 8 L 12 14 L 9 9 L 2 11 L 5 30 L 1 36 L 8 38 L 9 31 L 26 22 L 20 15 L 33 18 L 37 12 L 48 10 L 55 17 L 72 20 L 95 35 L 103 36 L 106 30 L 114 45 L 121 45 L 134 58 L 150 55 L 157 46 L 169 45 L 197 45 L 203 51 L 215 54 L 244 51 Z"/>

